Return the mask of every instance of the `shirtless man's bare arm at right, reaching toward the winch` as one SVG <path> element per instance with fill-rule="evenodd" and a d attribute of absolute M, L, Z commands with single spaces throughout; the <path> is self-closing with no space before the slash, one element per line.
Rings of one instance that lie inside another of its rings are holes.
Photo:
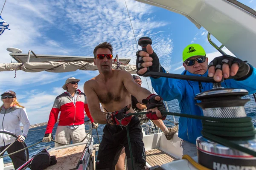
<path fill-rule="evenodd" d="M 123 83 L 128 92 L 133 95 L 138 100 L 138 102 L 143 104 L 142 100 L 146 99 L 151 94 L 151 92 L 134 82 L 134 79 L 129 72 L 120 71 L 119 74 L 121 74 Z"/>

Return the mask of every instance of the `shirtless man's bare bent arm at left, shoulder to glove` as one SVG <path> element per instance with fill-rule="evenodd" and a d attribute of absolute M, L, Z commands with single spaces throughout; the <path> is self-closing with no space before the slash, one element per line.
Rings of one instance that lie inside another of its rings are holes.
<path fill-rule="evenodd" d="M 87 104 L 93 119 L 99 124 L 106 124 L 105 112 L 102 112 L 99 106 L 99 98 L 91 86 L 91 81 L 89 80 L 84 83 L 84 93 L 87 97 Z"/>

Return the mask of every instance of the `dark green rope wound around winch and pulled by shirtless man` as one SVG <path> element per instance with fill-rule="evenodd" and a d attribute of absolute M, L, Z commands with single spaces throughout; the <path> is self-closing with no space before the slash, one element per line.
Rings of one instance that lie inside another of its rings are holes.
<path fill-rule="evenodd" d="M 242 147 L 233 141 L 255 139 L 256 130 L 250 117 L 242 118 L 214 118 L 207 116 L 195 116 L 182 113 L 161 112 L 165 115 L 180 116 L 192 119 L 202 119 L 202 135 L 214 142 L 256 156 L 256 152 Z M 140 113 L 128 113 L 128 115 L 140 115 Z M 213 122 L 209 122 L 213 121 Z"/>

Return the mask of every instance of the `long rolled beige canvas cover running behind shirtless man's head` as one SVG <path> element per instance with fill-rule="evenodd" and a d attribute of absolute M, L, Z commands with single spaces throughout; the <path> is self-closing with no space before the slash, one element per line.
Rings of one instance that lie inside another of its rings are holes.
<path fill-rule="evenodd" d="M 130 72 L 131 74 L 136 74 L 135 65 L 112 65 L 113 69 L 122 69 Z M 48 71 L 53 73 L 64 73 L 76 70 L 97 70 L 97 66 L 93 63 L 76 61 L 76 62 L 25 62 L 25 63 L 0 63 L 0 71 L 16 71 L 22 70 L 25 72 L 40 72 Z"/>

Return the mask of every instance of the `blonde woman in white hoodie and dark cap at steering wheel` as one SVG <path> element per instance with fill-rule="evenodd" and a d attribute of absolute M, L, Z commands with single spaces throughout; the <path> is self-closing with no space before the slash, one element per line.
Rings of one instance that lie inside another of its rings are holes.
<path fill-rule="evenodd" d="M 12 144 L 6 151 L 13 153 L 23 148 L 23 142 L 29 131 L 29 119 L 26 109 L 17 102 L 14 91 L 6 91 L 1 94 L 3 105 L 0 110 L 0 130 L 11 132 L 19 136 L 17 141 L 15 137 L 0 133 L 0 152 Z M 23 124 L 23 133 L 21 133 L 20 122 Z M 2 156 L 2 155 L 1 155 Z M 10 156 L 15 170 L 26 162 L 25 150 Z"/>

